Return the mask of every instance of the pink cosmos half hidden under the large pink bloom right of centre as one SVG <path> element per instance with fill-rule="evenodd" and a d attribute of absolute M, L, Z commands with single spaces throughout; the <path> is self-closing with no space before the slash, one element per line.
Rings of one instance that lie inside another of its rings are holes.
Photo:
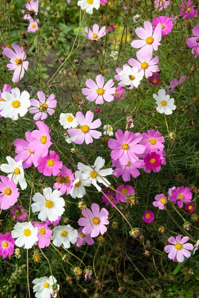
<path fill-rule="evenodd" d="M 125 165 L 121 164 L 119 160 L 112 160 L 112 166 L 116 166 L 112 174 L 117 178 L 122 175 L 124 182 L 127 182 L 130 181 L 130 175 L 132 175 L 133 178 L 137 178 L 140 175 L 138 168 L 143 169 L 144 160 L 139 159 L 136 162 L 128 161 Z"/>

